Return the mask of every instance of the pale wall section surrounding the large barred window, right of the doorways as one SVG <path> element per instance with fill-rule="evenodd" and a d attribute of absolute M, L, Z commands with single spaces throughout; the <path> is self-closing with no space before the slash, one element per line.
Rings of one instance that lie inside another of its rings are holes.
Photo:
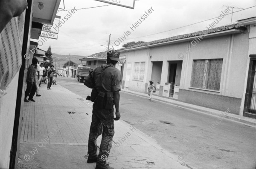
<path fill-rule="evenodd" d="M 245 32 L 203 39 L 196 46 L 191 45 L 183 89 L 242 98 L 248 42 L 248 34 Z M 189 88 L 195 59 L 223 59 L 219 92 Z"/>

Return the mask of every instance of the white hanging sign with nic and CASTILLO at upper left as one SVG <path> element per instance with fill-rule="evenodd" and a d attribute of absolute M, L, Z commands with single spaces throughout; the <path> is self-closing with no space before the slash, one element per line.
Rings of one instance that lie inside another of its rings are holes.
<path fill-rule="evenodd" d="M 48 37 L 48 38 L 51 38 L 51 39 L 58 39 L 59 27 L 55 26 L 55 28 L 53 29 L 52 26 L 53 25 L 58 25 L 58 23 L 60 23 L 60 20 L 61 20 L 61 17 L 56 16 L 52 25 L 44 24 L 43 27 L 42 27 L 42 31 L 41 31 L 40 36 Z"/>

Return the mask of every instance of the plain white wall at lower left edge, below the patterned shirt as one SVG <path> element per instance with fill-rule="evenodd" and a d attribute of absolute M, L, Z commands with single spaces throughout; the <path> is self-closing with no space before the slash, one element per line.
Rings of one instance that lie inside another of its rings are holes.
<path fill-rule="evenodd" d="M 9 168 L 12 133 L 17 98 L 17 73 L 7 89 L 7 94 L 0 98 L 0 168 Z"/>

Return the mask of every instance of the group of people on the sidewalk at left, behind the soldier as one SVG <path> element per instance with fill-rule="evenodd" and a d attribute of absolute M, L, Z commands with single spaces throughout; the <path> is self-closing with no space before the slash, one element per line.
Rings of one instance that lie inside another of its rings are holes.
<path fill-rule="evenodd" d="M 27 77 L 26 77 L 26 91 L 25 91 L 25 102 L 35 102 L 33 99 L 35 93 L 37 97 L 40 97 L 40 89 L 42 82 L 47 83 L 47 89 L 51 89 L 52 86 L 52 78 L 57 78 L 57 73 L 53 69 L 54 66 L 51 65 L 50 68 L 48 66 L 44 67 L 44 64 L 38 64 L 38 59 L 34 57 L 32 59 L 32 64 L 28 68 Z M 56 83 L 56 80 L 54 82 Z M 29 98 L 27 99 L 27 97 Z"/>

